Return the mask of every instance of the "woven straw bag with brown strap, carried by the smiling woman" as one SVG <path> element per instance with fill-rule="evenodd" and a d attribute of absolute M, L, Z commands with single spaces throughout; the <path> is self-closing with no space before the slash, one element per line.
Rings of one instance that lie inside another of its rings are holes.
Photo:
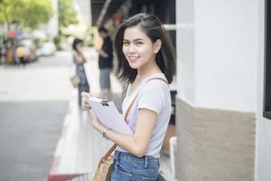
<path fill-rule="evenodd" d="M 163 78 L 152 78 L 149 81 L 151 81 L 151 80 L 165 81 Z M 167 81 L 165 81 L 165 82 L 167 83 Z M 135 99 L 137 98 L 137 95 L 135 96 L 134 100 L 130 103 L 128 109 L 126 110 L 125 121 L 127 119 L 127 116 L 129 114 L 133 104 L 134 104 Z M 93 181 L 110 181 L 111 180 L 111 172 L 112 172 L 112 167 L 113 167 L 113 162 L 114 162 L 114 154 L 115 154 L 116 148 L 117 148 L 117 144 L 114 144 L 107 151 L 107 154 L 99 160 L 98 167 L 96 168 Z"/>

